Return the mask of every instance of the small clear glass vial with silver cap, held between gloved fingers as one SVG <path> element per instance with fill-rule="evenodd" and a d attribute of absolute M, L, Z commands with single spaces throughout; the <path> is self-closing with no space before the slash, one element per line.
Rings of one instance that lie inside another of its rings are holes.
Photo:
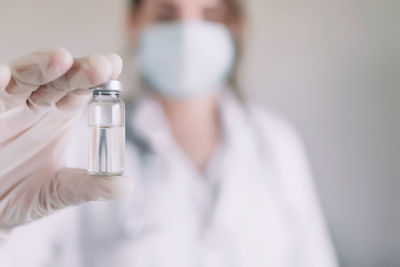
<path fill-rule="evenodd" d="M 124 172 L 125 104 L 120 99 L 119 80 L 90 88 L 89 166 L 90 175 L 114 176 Z"/>

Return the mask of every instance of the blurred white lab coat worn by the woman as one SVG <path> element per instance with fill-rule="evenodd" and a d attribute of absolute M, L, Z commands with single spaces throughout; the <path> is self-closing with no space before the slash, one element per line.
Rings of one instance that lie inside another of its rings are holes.
<path fill-rule="evenodd" d="M 199 173 L 160 106 L 141 98 L 127 113 L 135 193 L 20 227 L 0 249 L 0 266 L 337 266 L 295 132 L 227 92 L 220 115 L 223 142 Z M 85 162 L 86 138 L 77 136 L 73 166 Z"/>

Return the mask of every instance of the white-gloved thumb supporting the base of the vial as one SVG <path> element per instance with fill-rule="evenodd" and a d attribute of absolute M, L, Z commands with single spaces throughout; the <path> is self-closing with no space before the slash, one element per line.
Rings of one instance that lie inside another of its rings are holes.
<path fill-rule="evenodd" d="M 92 176 L 84 169 L 61 169 L 54 181 L 59 208 L 93 200 L 112 200 L 133 191 L 127 176 Z"/>

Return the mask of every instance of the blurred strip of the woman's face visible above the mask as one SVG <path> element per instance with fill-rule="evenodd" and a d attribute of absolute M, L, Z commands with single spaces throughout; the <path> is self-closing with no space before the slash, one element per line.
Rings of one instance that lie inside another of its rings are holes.
<path fill-rule="evenodd" d="M 206 20 L 224 23 L 228 12 L 224 0 L 142 0 L 131 15 L 129 34 L 143 27 L 173 21 Z"/>

